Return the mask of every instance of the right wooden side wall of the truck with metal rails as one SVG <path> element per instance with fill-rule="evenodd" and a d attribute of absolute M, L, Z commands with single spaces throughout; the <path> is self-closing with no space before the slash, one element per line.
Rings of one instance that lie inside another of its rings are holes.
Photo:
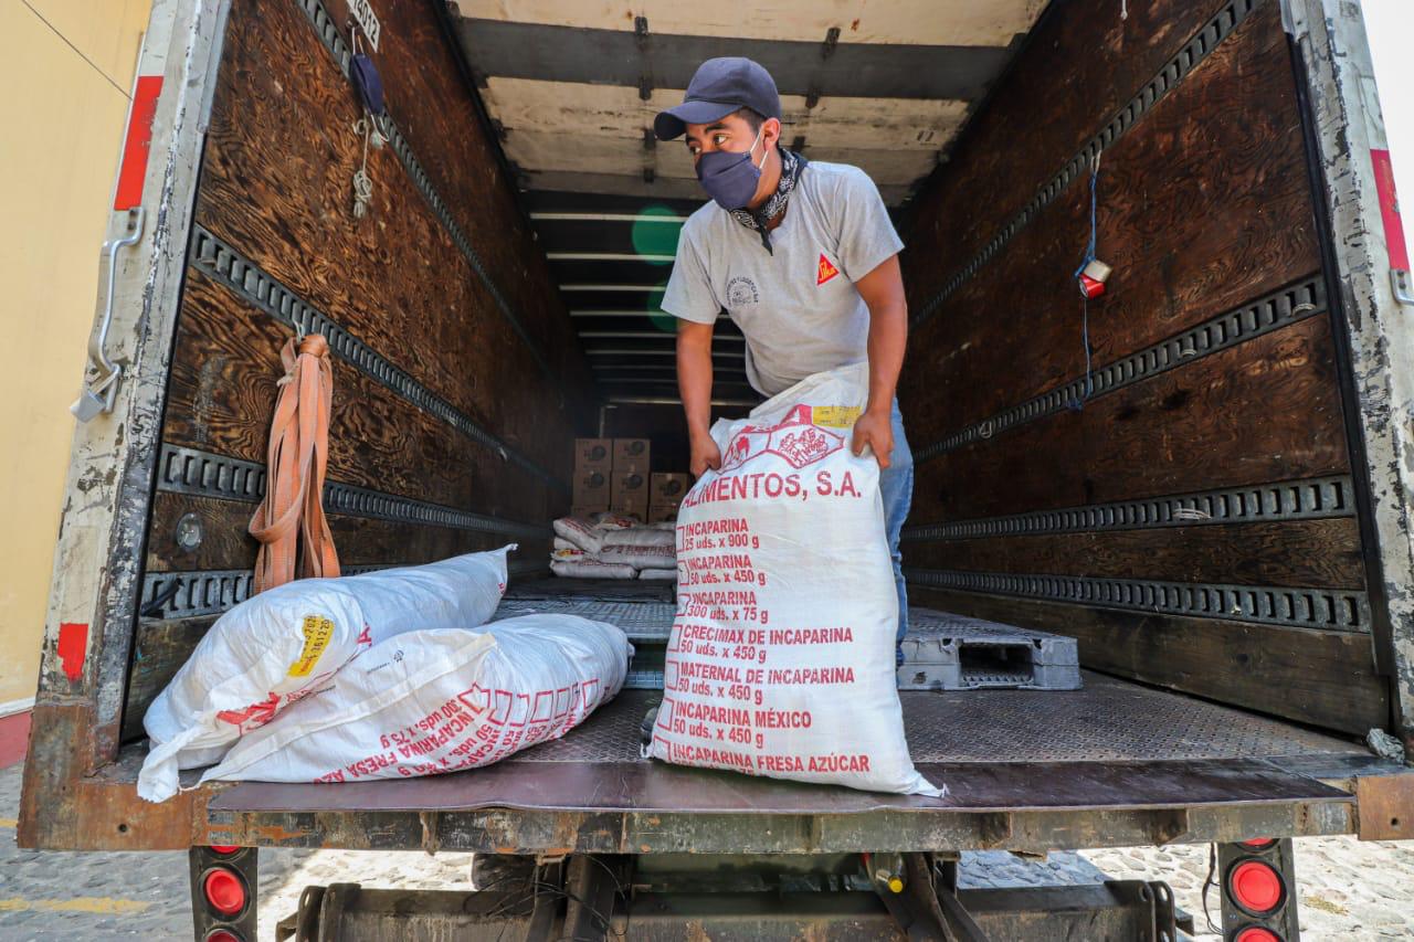
<path fill-rule="evenodd" d="M 915 601 L 1076 635 L 1102 670 L 1383 727 L 1278 3 L 1052 14 L 904 233 Z M 1086 306 L 1099 150 L 1114 273 Z"/>

